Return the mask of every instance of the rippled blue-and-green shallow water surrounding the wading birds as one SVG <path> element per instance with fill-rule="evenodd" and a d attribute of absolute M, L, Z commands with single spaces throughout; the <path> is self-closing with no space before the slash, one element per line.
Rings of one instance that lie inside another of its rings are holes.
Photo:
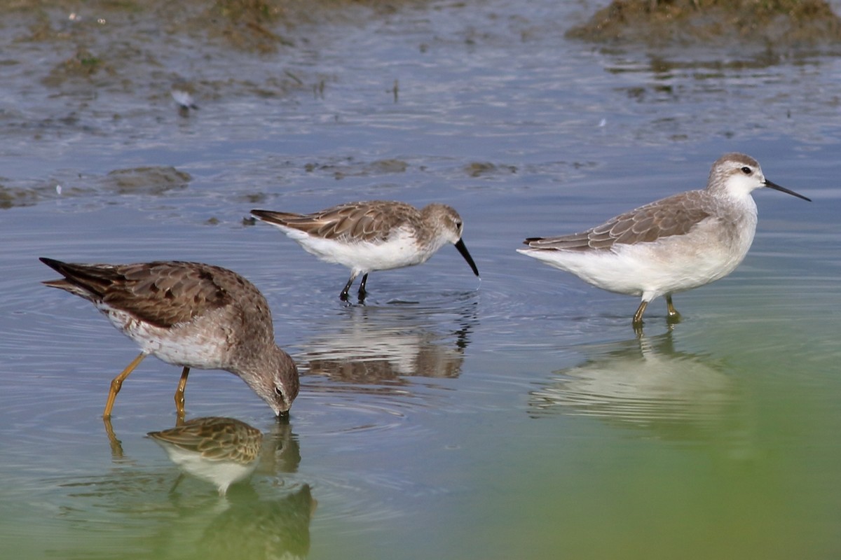
<path fill-rule="evenodd" d="M 593 9 L 432 3 L 171 56 L 187 117 L 168 74 L 56 91 L 23 70 L 38 48 L 4 55 L 0 556 L 837 556 L 841 62 L 563 39 Z M 224 86 L 286 71 L 298 91 Z M 756 192 L 747 259 L 675 296 L 674 327 L 655 301 L 637 338 L 633 298 L 514 251 L 703 186 L 733 150 L 813 202 Z M 456 207 L 482 279 L 445 247 L 346 306 L 346 270 L 244 221 L 368 198 Z M 39 256 L 201 260 L 264 292 L 304 374 L 288 424 L 230 374 L 187 390 L 188 417 L 266 434 L 249 482 L 173 488 L 145 434 L 174 425 L 178 373 L 155 359 L 108 432 L 135 347 L 40 285 Z"/>

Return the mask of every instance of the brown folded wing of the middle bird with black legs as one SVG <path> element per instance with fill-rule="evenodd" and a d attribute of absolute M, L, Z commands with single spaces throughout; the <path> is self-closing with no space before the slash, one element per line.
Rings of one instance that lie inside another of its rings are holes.
<path fill-rule="evenodd" d="M 367 201 L 340 204 L 312 214 L 266 210 L 254 211 L 254 214 L 266 222 L 326 239 L 378 242 L 388 239 L 393 228 L 417 211 L 402 202 Z"/>

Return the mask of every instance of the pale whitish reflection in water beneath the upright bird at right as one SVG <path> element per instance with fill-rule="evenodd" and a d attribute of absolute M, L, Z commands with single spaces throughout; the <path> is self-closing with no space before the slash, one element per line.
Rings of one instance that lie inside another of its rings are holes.
<path fill-rule="evenodd" d="M 587 352 L 594 356 L 530 392 L 532 416 L 595 416 L 677 439 L 708 437 L 740 422 L 732 376 L 715 359 L 675 351 L 671 329 Z"/>

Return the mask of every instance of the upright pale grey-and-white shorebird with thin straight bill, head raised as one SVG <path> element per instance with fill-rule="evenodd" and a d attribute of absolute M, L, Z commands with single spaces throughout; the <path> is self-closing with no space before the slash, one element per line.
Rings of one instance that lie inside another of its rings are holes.
<path fill-rule="evenodd" d="M 528 238 L 528 249 L 517 251 L 603 290 L 641 296 L 634 327 L 658 296 L 665 296 L 669 320 L 676 322 L 672 294 L 727 276 L 748 253 L 756 231 L 750 193 L 759 187 L 810 201 L 765 179 L 754 158 L 724 154 L 712 165 L 706 189 L 651 202 L 585 232 Z"/>

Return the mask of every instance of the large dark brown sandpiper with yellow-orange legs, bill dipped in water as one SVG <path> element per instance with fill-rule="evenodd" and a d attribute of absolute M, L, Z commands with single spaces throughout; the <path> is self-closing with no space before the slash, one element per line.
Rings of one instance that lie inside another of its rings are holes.
<path fill-rule="evenodd" d="M 91 301 L 140 355 L 111 381 L 103 413 L 111 416 L 123 381 L 145 356 L 182 366 L 175 393 L 184 416 L 190 368 L 238 375 L 278 416 L 298 395 L 298 369 L 274 342 L 266 298 L 241 275 L 219 266 L 180 261 L 137 264 L 68 264 L 41 261 L 64 278 L 44 282 Z"/>

